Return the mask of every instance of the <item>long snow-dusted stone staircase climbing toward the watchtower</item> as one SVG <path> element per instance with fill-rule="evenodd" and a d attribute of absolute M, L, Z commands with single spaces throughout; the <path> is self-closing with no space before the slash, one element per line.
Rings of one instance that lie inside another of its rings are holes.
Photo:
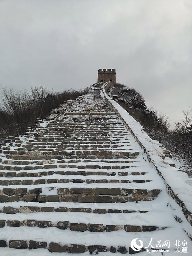
<path fill-rule="evenodd" d="M 11 248 L 15 255 L 21 251 L 16 249 L 39 254 L 44 249 L 46 255 L 132 254 L 130 242 L 136 237 L 144 244 L 151 237 L 188 240 L 173 210 L 178 205 L 111 112 L 101 85 L 93 84 L 87 95 L 53 109 L 23 136 L 4 141 L 2 255 Z M 145 248 L 140 252 L 148 255 Z"/>

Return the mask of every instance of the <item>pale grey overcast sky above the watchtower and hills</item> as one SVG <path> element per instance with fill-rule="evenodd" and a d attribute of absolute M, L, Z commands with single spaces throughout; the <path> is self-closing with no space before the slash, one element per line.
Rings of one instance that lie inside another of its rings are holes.
<path fill-rule="evenodd" d="M 180 121 L 192 105 L 192 1 L 0 0 L 3 87 L 79 89 L 99 68 Z"/>

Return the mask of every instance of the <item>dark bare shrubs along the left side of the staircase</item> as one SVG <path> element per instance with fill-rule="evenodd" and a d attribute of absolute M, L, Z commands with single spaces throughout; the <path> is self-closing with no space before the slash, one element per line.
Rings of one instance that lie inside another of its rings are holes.
<path fill-rule="evenodd" d="M 0 142 L 7 136 L 23 134 L 36 118 L 44 118 L 66 100 L 76 99 L 88 92 L 88 88 L 50 92 L 43 86 L 14 91 L 3 88 L 0 104 Z"/>

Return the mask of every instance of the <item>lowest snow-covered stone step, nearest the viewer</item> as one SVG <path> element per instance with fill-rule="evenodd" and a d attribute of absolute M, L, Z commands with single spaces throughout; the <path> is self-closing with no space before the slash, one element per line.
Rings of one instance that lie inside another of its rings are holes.
<path fill-rule="evenodd" d="M 99 253 L 105 252 L 105 254 L 103 255 L 108 255 L 108 253 L 110 252 L 132 254 L 134 253 L 134 251 L 132 251 L 130 248 L 130 242 L 132 241 L 132 239 L 135 238 L 135 236 L 137 236 L 138 239 L 141 239 L 144 243 L 144 246 L 147 247 L 152 235 L 151 232 L 135 233 L 124 232 L 124 230 L 118 230 L 116 232 L 98 232 L 97 235 L 95 232 L 92 233 L 89 231 L 85 231 L 81 233 L 81 235 L 79 235 L 78 232 L 65 230 L 65 236 L 63 236 L 63 230 L 61 229 L 47 228 L 45 232 L 43 228 L 37 227 L 34 227 L 33 231 L 31 231 L 30 227 L 6 227 L 5 231 L 6 232 L 4 234 L 9 234 L 9 237 L 2 237 L 1 243 L 4 246 L 9 246 L 10 248 L 44 248 L 48 249 L 50 252 L 89 252 L 89 254 L 90 252 L 93 253 L 98 251 Z M 185 234 L 185 232 L 180 232 L 179 228 L 157 230 L 153 231 L 152 243 L 155 245 L 154 247 L 156 247 L 156 243 L 157 241 L 159 241 L 159 236 L 163 237 L 163 241 L 167 240 L 167 236 L 170 238 L 170 251 L 172 253 L 174 252 L 174 241 L 177 240 L 177 238 L 180 239 L 180 241 L 182 241 L 182 239 L 188 239 L 188 236 Z M 190 244 L 188 246 L 188 249 L 192 250 Z M 27 253 L 27 251 L 28 250 L 25 250 L 25 253 Z M 6 252 L 9 251 L 7 250 Z M 36 250 L 36 252 L 38 252 L 38 249 Z"/>

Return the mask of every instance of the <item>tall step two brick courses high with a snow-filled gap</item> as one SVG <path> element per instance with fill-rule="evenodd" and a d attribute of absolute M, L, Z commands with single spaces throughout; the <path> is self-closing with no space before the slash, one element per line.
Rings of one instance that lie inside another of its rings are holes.
<path fill-rule="evenodd" d="M 113 184 L 113 183 L 112 183 Z M 66 184 L 67 185 L 67 184 Z M 90 184 L 89 184 L 90 185 Z M 96 184 L 95 184 L 96 185 Z M 102 184 L 103 185 L 103 184 Z M 113 184 L 114 185 L 114 184 Z M 46 192 L 52 191 L 52 195 Z M 3 188 L 0 203 L 26 202 L 79 202 L 79 203 L 125 203 L 129 201 L 152 201 L 161 192 L 160 189 L 132 188 Z"/>

